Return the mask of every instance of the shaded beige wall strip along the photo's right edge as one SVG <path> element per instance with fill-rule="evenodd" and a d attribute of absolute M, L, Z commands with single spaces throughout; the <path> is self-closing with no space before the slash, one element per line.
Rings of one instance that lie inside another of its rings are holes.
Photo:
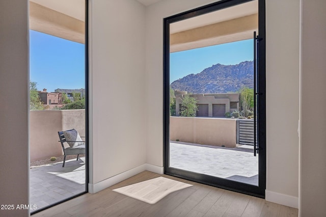
<path fill-rule="evenodd" d="M 326 1 L 300 2 L 299 216 L 319 217 L 326 216 Z"/>

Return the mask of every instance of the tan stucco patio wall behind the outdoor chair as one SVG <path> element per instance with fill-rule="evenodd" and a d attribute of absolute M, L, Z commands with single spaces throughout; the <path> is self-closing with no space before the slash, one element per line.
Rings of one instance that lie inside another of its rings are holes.
<path fill-rule="evenodd" d="M 63 154 L 58 131 L 76 129 L 85 136 L 85 110 L 44 110 L 30 112 L 30 159 Z"/>

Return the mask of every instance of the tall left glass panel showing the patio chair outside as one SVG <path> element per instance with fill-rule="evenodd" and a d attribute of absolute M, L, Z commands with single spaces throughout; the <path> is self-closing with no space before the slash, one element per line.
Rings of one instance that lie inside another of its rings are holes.
<path fill-rule="evenodd" d="M 88 191 L 88 1 L 65 4 L 29 5 L 31 214 Z"/>

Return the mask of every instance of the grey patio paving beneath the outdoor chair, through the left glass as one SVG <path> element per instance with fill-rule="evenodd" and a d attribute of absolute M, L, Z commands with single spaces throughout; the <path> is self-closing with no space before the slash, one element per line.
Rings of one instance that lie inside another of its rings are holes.
<path fill-rule="evenodd" d="M 85 191 L 85 157 L 30 169 L 30 203 L 37 209 Z"/>

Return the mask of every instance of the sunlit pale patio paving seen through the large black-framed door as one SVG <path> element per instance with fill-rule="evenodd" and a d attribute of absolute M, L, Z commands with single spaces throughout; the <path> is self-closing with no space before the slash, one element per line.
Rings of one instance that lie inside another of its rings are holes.
<path fill-rule="evenodd" d="M 170 167 L 258 185 L 258 154 L 253 150 L 170 143 Z"/>

